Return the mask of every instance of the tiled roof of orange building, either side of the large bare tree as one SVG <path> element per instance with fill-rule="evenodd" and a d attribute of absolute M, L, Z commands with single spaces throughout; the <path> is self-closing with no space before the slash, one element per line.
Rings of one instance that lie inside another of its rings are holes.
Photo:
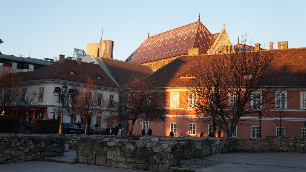
<path fill-rule="evenodd" d="M 273 51 L 278 72 L 273 74 L 279 80 L 276 86 L 306 86 L 306 48 L 274 49 L 259 52 Z M 221 54 L 214 54 L 221 55 Z M 160 88 L 186 87 L 186 80 L 178 79 L 182 74 L 192 73 L 192 67 L 197 59 L 211 57 L 210 54 L 176 58 L 169 64 L 148 76 L 148 80 L 159 85 Z"/>

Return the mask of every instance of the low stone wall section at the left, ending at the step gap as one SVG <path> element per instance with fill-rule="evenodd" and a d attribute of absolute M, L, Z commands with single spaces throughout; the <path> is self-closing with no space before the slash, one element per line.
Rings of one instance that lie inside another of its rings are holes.
<path fill-rule="evenodd" d="M 0 163 L 30 161 L 64 155 L 65 139 L 59 135 L 1 134 Z"/>

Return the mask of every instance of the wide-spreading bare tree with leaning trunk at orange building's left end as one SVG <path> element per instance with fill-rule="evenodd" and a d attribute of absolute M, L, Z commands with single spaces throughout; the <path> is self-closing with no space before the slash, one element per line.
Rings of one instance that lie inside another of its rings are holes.
<path fill-rule="evenodd" d="M 106 121 L 131 120 L 129 134 L 132 134 L 137 119 L 150 122 L 166 121 L 166 114 L 170 112 L 165 108 L 166 95 L 164 91 L 157 89 L 153 82 L 136 76 L 125 88 L 129 94 L 122 102 L 114 103 L 113 111 L 106 116 Z"/>

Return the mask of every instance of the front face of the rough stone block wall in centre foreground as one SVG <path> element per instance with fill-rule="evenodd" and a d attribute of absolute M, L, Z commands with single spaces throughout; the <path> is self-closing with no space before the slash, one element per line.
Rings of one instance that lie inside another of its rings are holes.
<path fill-rule="evenodd" d="M 182 143 L 83 136 L 78 139 L 79 163 L 119 168 L 169 171 L 179 165 Z"/>

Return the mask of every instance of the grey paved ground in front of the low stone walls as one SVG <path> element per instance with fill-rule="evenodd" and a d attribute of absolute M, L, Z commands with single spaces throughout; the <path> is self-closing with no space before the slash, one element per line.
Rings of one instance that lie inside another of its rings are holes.
<path fill-rule="evenodd" d="M 0 172 L 132 172 L 130 170 L 106 166 L 77 164 L 75 151 L 69 150 L 66 156 L 44 158 L 43 161 L 29 161 L 0 165 Z M 254 152 L 226 153 L 207 156 L 203 159 L 181 161 L 181 166 L 173 171 L 196 172 L 306 172 L 306 154 L 294 152 Z M 49 162 L 53 161 L 53 162 Z"/>

